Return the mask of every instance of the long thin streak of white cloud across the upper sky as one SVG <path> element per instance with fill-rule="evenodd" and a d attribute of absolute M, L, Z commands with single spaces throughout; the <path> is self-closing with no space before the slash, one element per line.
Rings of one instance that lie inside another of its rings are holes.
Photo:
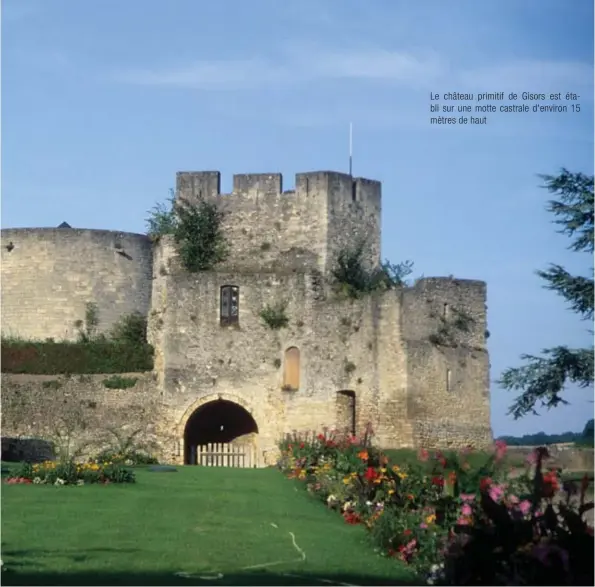
<path fill-rule="evenodd" d="M 482 67 L 450 63 L 435 52 L 340 50 L 288 45 L 279 58 L 200 60 L 183 67 L 119 71 L 116 81 L 195 90 L 271 89 L 311 82 L 360 81 L 410 90 L 576 92 L 592 98 L 593 68 L 580 62 L 521 60 Z"/>

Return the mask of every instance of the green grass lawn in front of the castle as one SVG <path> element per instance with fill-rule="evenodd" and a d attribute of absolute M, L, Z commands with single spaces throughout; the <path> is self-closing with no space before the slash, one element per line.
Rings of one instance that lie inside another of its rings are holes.
<path fill-rule="evenodd" d="M 364 528 L 345 524 L 277 470 L 136 472 L 127 485 L 3 484 L 2 583 L 414 582 L 399 562 L 374 553 Z"/>

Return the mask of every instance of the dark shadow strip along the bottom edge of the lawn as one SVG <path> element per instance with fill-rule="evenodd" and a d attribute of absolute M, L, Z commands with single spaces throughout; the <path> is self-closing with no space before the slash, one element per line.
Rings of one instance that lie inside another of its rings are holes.
<path fill-rule="evenodd" d="M 165 572 L 20 572 L 2 573 L 3 585 L 414 585 L 411 581 L 379 578 L 353 573 L 231 572 L 217 578 L 215 573 L 178 577 Z M 418 583 L 423 585 L 423 583 Z"/>

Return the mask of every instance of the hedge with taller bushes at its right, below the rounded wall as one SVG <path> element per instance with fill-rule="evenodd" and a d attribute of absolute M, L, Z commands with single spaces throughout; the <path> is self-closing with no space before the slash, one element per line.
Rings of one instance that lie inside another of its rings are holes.
<path fill-rule="evenodd" d="M 147 343 L 146 319 L 140 314 L 123 316 L 108 335 L 97 334 L 97 307 L 89 303 L 85 320 L 77 321 L 76 326 L 76 341 L 2 337 L 2 373 L 63 375 L 153 369 L 153 347 Z"/>

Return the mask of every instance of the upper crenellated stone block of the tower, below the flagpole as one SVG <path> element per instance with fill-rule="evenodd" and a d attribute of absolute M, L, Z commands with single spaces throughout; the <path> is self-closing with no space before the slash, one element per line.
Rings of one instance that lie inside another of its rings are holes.
<path fill-rule="evenodd" d="M 367 241 L 367 260 L 380 261 L 381 184 L 336 171 L 295 175 L 283 191 L 280 173 L 233 176 L 231 194 L 221 193 L 218 171 L 184 171 L 176 176 L 176 197 L 187 202 L 215 199 L 225 211 L 225 230 L 236 266 L 254 269 L 289 264 L 328 271 L 355 238 Z M 260 248 L 259 248 L 260 247 Z M 266 254 L 265 254 L 266 253 Z"/>

